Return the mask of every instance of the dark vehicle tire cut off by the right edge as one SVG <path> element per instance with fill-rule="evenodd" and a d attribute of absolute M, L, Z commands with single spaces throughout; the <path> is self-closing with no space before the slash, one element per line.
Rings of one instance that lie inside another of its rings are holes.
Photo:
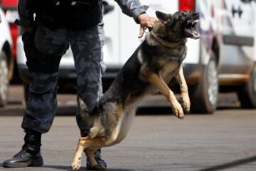
<path fill-rule="evenodd" d="M 238 90 L 238 99 L 242 108 L 256 108 L 256 65 L 254 65 L 249 82 Z"/>

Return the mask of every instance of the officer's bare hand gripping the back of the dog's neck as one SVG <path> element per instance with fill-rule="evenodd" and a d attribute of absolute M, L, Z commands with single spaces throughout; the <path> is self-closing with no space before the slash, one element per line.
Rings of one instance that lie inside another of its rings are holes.
<path fill-rule="evenodd" d="M 146 13 L 142 13 L 141 15 L 138 16 L 138 21 L 140 23 L 139 38 L 142 38 L 146 28 L 152 28 L 154 26 L 154 22 L 156 21 L 156 18 L 148 16 Z"/>

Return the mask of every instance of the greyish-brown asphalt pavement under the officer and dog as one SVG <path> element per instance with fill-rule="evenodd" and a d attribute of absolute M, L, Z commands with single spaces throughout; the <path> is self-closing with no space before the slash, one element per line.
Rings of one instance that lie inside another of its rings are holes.
<path fill-rule="evenodd" d="M 20 94 L 9 100 L 6 109 L 0 109 L 0 165 L 23 144 L 22 92 L 21 87 L 13 89 L 11 93 Z M 228 106 L 222 106 L 213 115 L 190 114 L 183 121 L 171 115 L 169 109 L 136 116 L 122 143 L 102 149 L 108 170 L 255 171 L 256 110 L 239 109 L 233 99 L 228 102 Z M 60 96 L 59 103 L 53 127 L 43 135 L 45 165 L 19 169 L 0 167 L 1 171 L 70 170 L 79 137 L 74 117 L 75 96 Z M 85 155 L 82 164 L 85 166 Z M 86 170 L 85 167 L 82 170 Z"/>

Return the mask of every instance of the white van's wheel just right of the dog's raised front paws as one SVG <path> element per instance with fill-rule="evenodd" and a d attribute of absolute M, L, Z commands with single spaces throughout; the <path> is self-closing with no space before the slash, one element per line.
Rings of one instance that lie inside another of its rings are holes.
<path fill-rule="evenodd" d="M 191 111 L 195 114 L 213 114 L 217 108 L 218 70 L 212 54 L 197 85 L 190 87 Z"/>

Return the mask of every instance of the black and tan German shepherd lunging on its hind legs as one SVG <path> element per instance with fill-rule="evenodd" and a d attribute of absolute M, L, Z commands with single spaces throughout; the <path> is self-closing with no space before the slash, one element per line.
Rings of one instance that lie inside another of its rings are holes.
<path fill-rule="evenodd" d="M 96 162 L 95 151 L 117 144 L 127 136 L 136 106 L 145 96 L 161 92 L 178 118 L 184 117 L 183 110 L 189 112 L 191 103 L 181 62 L 186 57 L 187 38 L 199 38 L 196 31 L 199 15 L 191 11 L 173 15 L 156 11 L 156 16 L 159 21 L 119 71 L 94 111 L 82 116 L 91 127 L 88 136 L 79 139 L 71 164 L 73 170 L 80 169 L 83 150 L 93 169 L 106 169 Z M 173 77 L 181 88 L 181 104 L 166 84 Z M 86 108 L 79 98 L 78 105 Z"/>

